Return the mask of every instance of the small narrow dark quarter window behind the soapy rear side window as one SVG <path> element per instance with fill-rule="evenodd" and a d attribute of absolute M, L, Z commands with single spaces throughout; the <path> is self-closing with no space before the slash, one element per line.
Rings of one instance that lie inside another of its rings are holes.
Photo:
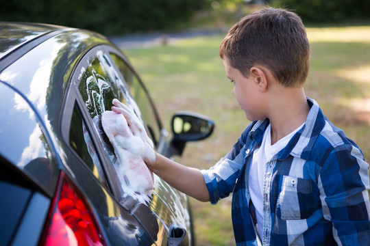
<path fill-rule="evenodd" d="M 69 143 L 91 169 L 94 176 L 106 185 L 103 169 L 101 168 L 101 163 L 97 156 L 97 151 L 95 150 L 93 141 L 91 141 L 90 133 L 88 133 L 86 125 L 81 118 L 77 105 L 73 108 Z"/>

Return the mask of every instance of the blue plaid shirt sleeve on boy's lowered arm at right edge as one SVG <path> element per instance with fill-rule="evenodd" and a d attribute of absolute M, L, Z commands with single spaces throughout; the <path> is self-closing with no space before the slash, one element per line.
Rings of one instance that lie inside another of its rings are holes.
<path fill-rule="evenodd" d="M 319 189 L 323 217 L 332 221 L 338 245 L 370 241 L 369 165 L 352 144 L 334 147 L 322 165 Z"/>

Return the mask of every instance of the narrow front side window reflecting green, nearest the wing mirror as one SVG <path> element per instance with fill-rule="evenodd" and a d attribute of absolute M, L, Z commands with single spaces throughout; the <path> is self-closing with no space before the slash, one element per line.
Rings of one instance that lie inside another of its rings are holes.
<path fill-rule="evenodd" d="M 153 111 L 153 107 L 145 91 L 145 88 L 140 83 L 140 80 L 134 72 L 130 69 L 129 66 L 119 57 L 118 55 L 111 53 L 110 56 L 112 57 L 114 63 L 119 68 L 122 77 L 125 79 L 128 87 L 130 88 L 131 94 L 134 97 L 138 107 L 140 108 L 141 115 L 143 116 L 143 120 L 147 124 L 147 129 L 151 135 L 151 139 L 154 143 L 157 143 L 160 126 L 158 125 L 158 121 L 156 115 Z"/>

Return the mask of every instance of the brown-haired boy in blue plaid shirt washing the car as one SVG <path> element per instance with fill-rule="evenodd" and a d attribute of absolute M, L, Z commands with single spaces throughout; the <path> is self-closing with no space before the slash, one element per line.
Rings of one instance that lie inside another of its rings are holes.
<path fill-rule="evenodd" d="M 252 123 L 209 170 L 160 154 L 148 167 L 200 201 L 233 193 L 237 245 L 369 245 L 369 165 L 306 98 L 310 45 L 299 16 L 273 8 L 245 16 L 220 56 Z"/>

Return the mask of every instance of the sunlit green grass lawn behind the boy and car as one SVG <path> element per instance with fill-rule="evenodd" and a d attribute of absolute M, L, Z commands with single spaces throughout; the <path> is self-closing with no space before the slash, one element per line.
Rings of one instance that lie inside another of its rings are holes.
<path fill-rule="evenodd" d="M 370 27 L 308 28 L 312 55 L 306 95 L 370 159 Z M 203 113 L 217 124 L 205 141 L 188 143 L 184 165 L 207 169 L 232 148 L 249 124 L 219 58 L 220 36 L 131 49 L 132 59 L 160 109 L 164 126 L 175 111 Z M 234 245 L 231 199 L 216 206 L 191 200 L 198 245 Z"/>

